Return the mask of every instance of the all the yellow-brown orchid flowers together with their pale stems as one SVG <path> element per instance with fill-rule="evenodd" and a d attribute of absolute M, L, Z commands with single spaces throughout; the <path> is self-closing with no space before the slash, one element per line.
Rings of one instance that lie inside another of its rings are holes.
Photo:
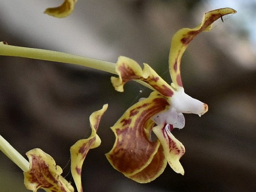
<path fill-rule="evenodd" d="M 74 9 L 76 1 L 65 0 L 60 7 L 49 8 L 46 13 L 59 18 L 68 16 Z M 173 82 L 170 85 L 148 64 L 144 64 L 142 69 L 136 61 L 124 56 L 120 56 L 117 63 L 112 64 L 67 53 L 10 46 L 3 42 L 0 43 L 0 55 L 66 62 L 111 72 L 118 75 L 118 77 L 111 77 L 111 82 L 119 92 L 124 91 L 124 84 L 130 80 L 138 81 L 151 88 L 153 92 L 149 97 L 141 98 L 139 102 L 132 105 L 111 127 L 115 134 L 115 143 L 111 151 L 106 154 L 108 161 L 116 170 L 136 182 L 147 183 L 160 176 L 167 163 L 176 173 L 184 174 L 179 160 L 185 153 L 185 147 L 171 131 L 185 126 L 183 113 L 201 116 L 208 111 L 208 106 L 184 92 L 181 80 L 181 58 L 188 44 L 200 32 L 210 31 L 214 21 L 231 13 L 236 11 L 231 8 L 209 11 L 204 13 L 200 25 L 192 29 L 182 28 L 173 35 L 169 53 L 169 71 Z M 79 192 L 83 191 L 81 168 L 84 159 L 89 149 L 101 144 L 96 131 L 107 107 L 108 105 L 105 104 L 101 110 L 90 115 L 92 128 L 90 137 L 78 140 L 70 148 L 71 174 Z M 157 140 L 151 139 L 152 132 Z M 24 171 L 24 184 L 27 189 L 74 191 L 73 186 L 61 176 L 61 167 L 41 149 L 35 148 L 26 153 L 29 162 L 1 136 L 0 149 Z"/>

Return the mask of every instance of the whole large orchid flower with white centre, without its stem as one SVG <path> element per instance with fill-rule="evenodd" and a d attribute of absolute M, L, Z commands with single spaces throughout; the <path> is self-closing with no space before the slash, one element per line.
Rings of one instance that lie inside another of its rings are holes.
<path fill-rule="evenodd" d="M 214 21 L 235 12 L 231 8 L 212 10 L 204 14 L 197 27 L 183 28 L 173 35 L 169 54 L 169 71 L 173 83 L 170 85 L 148 64 L 144 64 L 142 70 L 134 60 L 124 56 L 118 58 L 116 72 L 119 77 L 111 78 L 115 90 L 123 92 L 124 84 L 130 80 L 144 81 L 155 90 L 148 98 L 141 99 L 127 109 L 111 127 L 116 139 L 106 156 L 111 165 L 126 177 L 139 183 L 151 182 L 163 173 L 167 162 L 176 173 L 184 174 L 179 160 L 185 148 L 171 131 L 185 126 L 182 113 L 201 116 L 208 111 L 208 106 L 184 92 L 181 57 L 196 35 L 210 31 Z M 151 140 L 151 131 L 157 136 L 154 142 Z"/>

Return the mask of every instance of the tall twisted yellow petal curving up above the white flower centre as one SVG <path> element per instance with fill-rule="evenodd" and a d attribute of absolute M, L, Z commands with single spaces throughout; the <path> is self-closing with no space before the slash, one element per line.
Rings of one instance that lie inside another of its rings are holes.
<path fill-rule="evenodd" d="M 169 71 L 172 82 L 176 88 L 183 87 L 181 81 L 181 57 L 188 47 L 188 44 L 202 31 L 210 31 L 212 23 L 224 15 L 236 13 L 236 10 L 231 8 L 215 9 L 204 13 L 202 23 L 197 27 L 182 28 L 177 31 L 172 37 L 171 49 L 169 53 Z"/>

